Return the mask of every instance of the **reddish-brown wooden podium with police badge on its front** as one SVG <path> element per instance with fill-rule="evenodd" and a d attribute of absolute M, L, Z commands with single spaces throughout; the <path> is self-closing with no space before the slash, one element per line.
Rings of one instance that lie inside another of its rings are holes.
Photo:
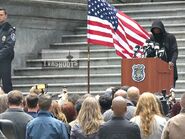
<path fill-rule="evenodd" d="M 136 86 L 140 92 L 161 92 L 169 94 L 173 87 L 173 68 L 159 58 L 123 59 L 121 68 L 121 84 Z"/>

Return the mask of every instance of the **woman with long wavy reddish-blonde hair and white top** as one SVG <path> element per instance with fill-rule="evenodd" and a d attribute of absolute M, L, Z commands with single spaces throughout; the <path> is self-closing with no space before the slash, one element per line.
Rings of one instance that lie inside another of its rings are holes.
<path fill-rule="evenodd" d="M 135 117 L 130 121 L 136 123 L 142 139 L 160 139 L 166 119 L 161 116 L 156 97 L 150 92 L 140 95 Z"/>

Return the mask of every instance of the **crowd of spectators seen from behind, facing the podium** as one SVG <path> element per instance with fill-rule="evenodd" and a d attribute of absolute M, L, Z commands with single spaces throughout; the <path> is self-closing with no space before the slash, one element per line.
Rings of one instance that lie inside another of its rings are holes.
<path fill-rule="evenodd" d="M 141 93 L 134 86 L 110 87 L 96 96 L 64 92 L 57 98 L 36 85 L 26 96 L 18 90 L 8 94 L 1 90 L 0 137 L 182 139 L 185 94 L 179 102 L 170 105 L 167 114 L 164 108 L 168 105 L 164 105 L 163 97 L 160 93 Z"/>

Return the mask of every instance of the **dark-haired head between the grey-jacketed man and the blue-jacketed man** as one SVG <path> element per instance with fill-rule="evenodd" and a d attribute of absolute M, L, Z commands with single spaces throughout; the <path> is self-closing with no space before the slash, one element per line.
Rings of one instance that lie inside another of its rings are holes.
<path fill-rule="evenodd" d="M 28 96 L 26 96 L 26 104 L 27 107 L 30 109 L 36 108 L 37 104 L 38 104 L 38 95 L 37 94 L 29 94 Z"/>

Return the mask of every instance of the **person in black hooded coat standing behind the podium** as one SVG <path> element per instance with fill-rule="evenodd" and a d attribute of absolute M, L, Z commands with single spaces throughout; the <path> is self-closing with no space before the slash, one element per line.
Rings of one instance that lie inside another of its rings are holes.
<path fill-rule="evenodd" d="M 173 34 L 166 32 L 164 24 L 160 20 L 155 20 L 151 28 L 152 36 L 151 41 L 159 43 L 160 49 L 164 50 L 162 60 L 174 67 L 174 87 L 178 79 L 176 60 L 178 57 L 178 48 L 176 38 Z"/>

